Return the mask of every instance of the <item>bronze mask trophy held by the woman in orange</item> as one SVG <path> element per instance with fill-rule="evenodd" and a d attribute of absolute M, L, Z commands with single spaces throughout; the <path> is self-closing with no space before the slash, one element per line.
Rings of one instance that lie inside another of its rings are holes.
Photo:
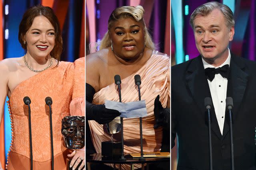
<path fill-rule="evenodd" d="M 84 116 L 66 116 L 62 119 L 61 133 L 63 141 L 68 149 L 82 149 L 84 148 Z M 71 160 L 67 160 L 67 170 Z M 80 164 L 82 161 L 80 162 Z M 76 167 L 76 170 L 80 166 Z"/>

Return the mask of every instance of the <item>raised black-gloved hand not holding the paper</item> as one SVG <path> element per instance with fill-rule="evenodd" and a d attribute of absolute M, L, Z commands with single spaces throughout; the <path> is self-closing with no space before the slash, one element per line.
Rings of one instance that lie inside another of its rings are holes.
<path fill-rule="evenodd" d="M 154 129 L 162 126 L 164 129 L 170 129 L 170 108 L 164 108 L 157 95 L 154 102 L 155 124 Z"/>

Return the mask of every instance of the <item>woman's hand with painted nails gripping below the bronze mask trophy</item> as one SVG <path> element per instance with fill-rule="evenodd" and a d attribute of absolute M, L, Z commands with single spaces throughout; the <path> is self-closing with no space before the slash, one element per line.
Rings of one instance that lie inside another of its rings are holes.
<path fill-rule="evenodd" d="M 84 164 L 85 164 L 85 160 L 84 160 L 84 156 L 85 156 L 85 152 L 84 149 L 78 149 L 78 150 L 74 150 L 71 154 L 67 155 L 68 157 L 73 157 L 71 162 L 70 162 L 70 168 L 73 166 L 73 170 L 76 169 L 76 167 L 78 166 L 78 164 L 80 164 L 80 162 L 82 161 L 81 165 L 78 167 L 78 170 L 82 170 L 84 169 Z"/>

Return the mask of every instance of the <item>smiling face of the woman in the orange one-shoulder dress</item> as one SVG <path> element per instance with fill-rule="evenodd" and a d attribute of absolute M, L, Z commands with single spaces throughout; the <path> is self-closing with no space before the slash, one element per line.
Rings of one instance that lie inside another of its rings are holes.
<path fill-rule="evenodd" d="M 26 48 L 32 57 L 46 57 L 55 45 L 54 27 L 44 16 L 34 18 L 31 27 L 24 36 Z"/>

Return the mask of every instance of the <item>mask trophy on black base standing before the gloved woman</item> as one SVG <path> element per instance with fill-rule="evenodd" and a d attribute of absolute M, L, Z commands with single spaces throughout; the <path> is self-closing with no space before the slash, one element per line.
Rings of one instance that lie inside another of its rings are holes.
<path fill-rule="evenodd" d="M 120 117 L 116 117 L 114 120 L 106 124 L 106 129 L 111 135 L 111 141 L 105 141 L 101 143 L 102 156 L 119 157 L 122 153 L 122 143 L 114 141 L 113 135 L 121 131 Z"/>

